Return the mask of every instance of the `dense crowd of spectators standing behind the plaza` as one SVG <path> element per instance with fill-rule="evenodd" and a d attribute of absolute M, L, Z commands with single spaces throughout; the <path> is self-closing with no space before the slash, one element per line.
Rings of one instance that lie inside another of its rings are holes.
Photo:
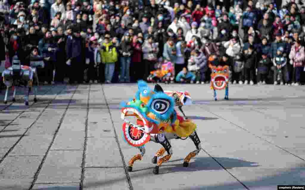
<path fill-rule="evenodd" d="M 212 64 L 230 66 L 233 84 L 300 85 L 305 7 L 277 3 L 1 0 L 0 58 L 43 62 L 42 84 L 135 82 L 171 62 L 172 83 L 209 83 Z"/>

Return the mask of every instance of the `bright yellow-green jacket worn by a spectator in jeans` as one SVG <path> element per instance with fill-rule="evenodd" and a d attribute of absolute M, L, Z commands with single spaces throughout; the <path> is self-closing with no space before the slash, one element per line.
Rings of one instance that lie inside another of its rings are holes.
<path fill-rule="evenodd" d="M 111 42 L 102 44 L 100 54 L 104 64 L 117 62 L 117 49 Z"/>

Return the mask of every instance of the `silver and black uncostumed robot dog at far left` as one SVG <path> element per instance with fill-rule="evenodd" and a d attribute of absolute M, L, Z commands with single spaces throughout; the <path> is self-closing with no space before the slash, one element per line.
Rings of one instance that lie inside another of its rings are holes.
<path fill-rule="evenodd" d="M 13 99 L 12 101 L 15 102 L 15 95 L 16 95 L 16 87 L 27 87 L 28 92 L 24 96 L 25 105 L 29 105 L 29 95 L 30 91 L 33 88 L 33 83 L 38 84 L 38 77 L 36 73 L 36 68 L 32 68 L 29 66 L 21 65 L 20 60 L 17 56 L 13 57 L 13 64 L 11 67 L 5 69 L 2 72 L 3 82 L 6 86 L 4 103 L 7 104 L 7 98 L 9 95 L 9 88 L 12 87 L 13 90 Z M 34 102 L 37 102 L 36 98 L 37 89 L 34 88 Z"/>

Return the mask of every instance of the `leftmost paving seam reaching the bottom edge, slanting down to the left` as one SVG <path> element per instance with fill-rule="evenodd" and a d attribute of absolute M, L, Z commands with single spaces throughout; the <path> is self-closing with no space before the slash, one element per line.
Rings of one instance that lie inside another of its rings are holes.
<path fill-rule="evenodd" d="M 77 87 L 75 88 L 75 90 L 74 90 L 74 92 L 73 92 L 73 94 L 72 94 L 72 96 L 71 96 L 71 98 L 70 98 L 70 101 L 69 101 L 69 103 L 68 103 L 68 105 L 67 105 L 67 107 L 66 107 L 66 109 L 65 109 L 65 111 L 64 111 L 64 113 L 63 113 L 63 115 L 62 115 L 62 117 L 60 118 L 59 125 L 58 125 L 58 127 L 57 127 L 57 129 L 56 129 L 56 131 L 55 131 L 55 133 L 54 133 L 54 135 L 53 135 L 52 141 L 51 141 L 51 143 L 50 143 L 50 145 L 49 145 L 49 147 L 48 147 L 48 149 L 47 149 L 47 151 L 46 151 L 46 153 L 45 153 L 43 159 L 41 160 L 41 163 L 40 163 L 39 166 L 38 166 L 37 171 L 36 171 L 35 174 L 34 174 L 34 177 L 33 177 L 34 180 L 32 181 L 32 184 L 31 184 L 29 190 L 31 190 L 31 189 L 34 187 L 35 182 L 37 181 L 37 178 L 38 178 L 38 175 L 39 175 L 40 170 L 41 170 L 41 168 L 42 168 L 42 165 L 44 164 L 45 159 L 46 159 L 47 156 L 48 156 L 48 153 L 49 153 L 49 151 L 50 151 L 50 149 L 51 149 L 51 147 L 52 147 L 52 145 L 53 145 L 53 143 L 54 143 L 54 140 L 55 140 L 56 135 L 57 135 L 57 133 L 58 133 L 58 131 L 59 131 L 59 128 L 60 128 L 61 124 L 63 123 L 63 119 L 64 119 L 64 117 L 66 116 L 67 110 L 68 110 L 68 108 L 69 108 L 69 106 L 70 106 L 70 103 L 71 103 L 71 101 L 72 101 L 72 99 L 73 99 L 73 96 L 74 96 L 74 94 L 75 94 L 75 92 L 76 92 L 76 90 L 77 90 L 78 87 L 79 87 L 79 85 L 77 85 Z M 57 96 L 57 95 L 56 95 L 56 96 Z"/>

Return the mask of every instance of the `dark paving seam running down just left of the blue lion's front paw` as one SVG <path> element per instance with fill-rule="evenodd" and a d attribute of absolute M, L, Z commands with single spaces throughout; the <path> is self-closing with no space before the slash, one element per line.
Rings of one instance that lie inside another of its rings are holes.
<path fill-rule="evenodd" d="M 105 94 L 105 90 L 104 90 L 103 84 L 101 84 L 101 88 L 102 88 L 102 92 L 103 92 L 103 96 L 104 96 L 104 99 L 105 99 L 105 103 L 106 103 L 106 106 L 107 106 L 107 109 L 108 109 L 108 112 L 109 112 L 109 115 L 110 115 L 110 120 L 111 120 L 112 128 L 113 128 L 113 131 L 114 131 L 114 134 L 115 134 L 115 139 L 117 141 L 117 146 L 119 148 L 120 155 L 121 155 L 121 158 L 122 158 L 122 162 L 123 162 L 123 166 L 124 166 L 124 171 L 125 171 L 126 178 L 127 178 L 127 183 L 129 185 L 129 189 L 133 190 L 134 188 L 133 188 L 132 181 L 131 181 L 131 178 L 129 176 L 129 173 L 127 171 L 127 165 L 125 163 L 125 158 L 124 158 L 124 155 L 123 155 L 123 151 L 122 151 L 122 148 L 121 148 L 121 145 L 120 145 L 120 142 L 119 142 L 119 138 L 117 136 L 117 131 L 116 131 L 115 127 L 114 127 L 114 121 L 113 121 L 113 118 L 112 118 L 112 114 L 111 114 L 111 111 L 110 111 L 109 104 L 107 102 L 107 98 L 106 98 L 106 94 Z"/>

